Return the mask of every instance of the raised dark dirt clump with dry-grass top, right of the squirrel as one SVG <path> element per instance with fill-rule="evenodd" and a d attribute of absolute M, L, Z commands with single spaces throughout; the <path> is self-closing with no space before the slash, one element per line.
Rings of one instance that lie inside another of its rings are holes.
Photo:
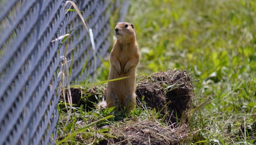
<path fill-rule="evenodd" d="M 176 119 L 183 120 L 186 110 L 191 107 L 194 97 L 191 76 L 186 70 L 170 70 L 140 76 L 137 81 L 136 95 L 138 100 L 147 106 L 156 108 L 164 115 L 165 122 L 176 123 Z M 182 118 L 183 117 L 183 118 Z"/>

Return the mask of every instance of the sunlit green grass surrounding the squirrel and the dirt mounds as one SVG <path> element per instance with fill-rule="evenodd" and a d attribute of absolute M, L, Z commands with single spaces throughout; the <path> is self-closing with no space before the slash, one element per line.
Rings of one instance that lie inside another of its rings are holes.
<path fill-rule="evenodd" d="M 138 75 L 173 68 L 190 70 L 200 80 L 193 83 L 196 106 L 211 100 L 191 111 L 187 136 L 181 143 L 256 143 L 255 1 L 132 0 L 126 21 L 134 25 L 140 47 Z M 112 22 L 113 30 L 115 23 Z M 99 68 L 99 81 L 108 78 L 108 69 L 106 60 Z M 60 109 L 57 143 L 109 115 L 116 117 L 100 120 L 62 144 L 97 144 L 115 138 L 113 128 L 102 126 L 120 128 L 125 123 L 130 125 L 131 120 L 156 124 L 156 114 L 143 105 L 130 114 L 113 114 L 107 108 L 86 111 L 73 107 L 66 124 L 67 113 Z"/>

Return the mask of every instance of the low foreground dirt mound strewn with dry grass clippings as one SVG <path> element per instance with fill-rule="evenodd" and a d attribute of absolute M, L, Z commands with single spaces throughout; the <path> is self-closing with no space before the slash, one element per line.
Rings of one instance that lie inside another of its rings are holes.
<path fill-rule="evenodd" d="M 187 134 L 171 127 L 162 126 L 158 121 L 126 121 L 125 124 L 112 126 L 110 134 L 116 138 L 102 141 L 100 144 L 141 144 L 141 145 L 178 145 Z"/>

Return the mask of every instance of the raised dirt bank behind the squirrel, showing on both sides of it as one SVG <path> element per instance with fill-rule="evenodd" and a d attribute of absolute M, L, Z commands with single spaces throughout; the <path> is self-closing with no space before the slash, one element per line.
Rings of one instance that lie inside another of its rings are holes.
<path fill-rule="evenodd" d="M 106 88 L 106 85 L 88 89 L 71 88 L 72 102 L 92 110 L 100 98 L 106 96 Z M 140 76 L 137 78 L 136 95 L 137 103 L 144 97 L 148 107 L 161 111 L 165 123 L 173 124 L 177 119 L 185 118 L 185 111 L 191 107 L 194 97 L 192 79 L 186 70 L 177 69 Z"/>

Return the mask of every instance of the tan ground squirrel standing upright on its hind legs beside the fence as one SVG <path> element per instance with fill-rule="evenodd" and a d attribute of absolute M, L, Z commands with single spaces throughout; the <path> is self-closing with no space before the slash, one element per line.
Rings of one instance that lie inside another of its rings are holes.
<path fill-rule="evenodd" d="M 140 52 L 132 24 L 117 23 L 116 42 L 110 53 L 108 80 L 128 77 L 123 80 L 109 81 L 106 96 L 107 107 L 135 108 L 135 71 L 140 61 Z M 121 105 L 121 106 L 120 106 Z"/>

